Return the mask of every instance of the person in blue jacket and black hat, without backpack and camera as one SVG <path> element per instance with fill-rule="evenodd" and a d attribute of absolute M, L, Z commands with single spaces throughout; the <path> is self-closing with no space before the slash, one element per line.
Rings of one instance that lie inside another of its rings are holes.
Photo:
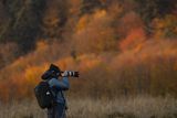
<path fill-rule="evenodd" d="M 52 107 L 48 108 L 48 118 L 65 118 L 66 100 L 63 95 L 63 90 L 70 88 L 70 83 L 67 78 L 67 71 L 63 73 L 63 78 L 59 79 L 61 71 L 58 66 L 51 64 L 50 68 L 43 74 L 43 76 L 52 73 L 48 77 L 46 82 L 51 87 L 51 92 L 55 96 L 55 103 Z"/>

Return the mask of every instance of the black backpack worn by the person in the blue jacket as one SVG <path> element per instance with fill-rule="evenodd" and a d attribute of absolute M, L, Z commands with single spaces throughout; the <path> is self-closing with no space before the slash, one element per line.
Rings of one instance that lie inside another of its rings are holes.
<path fill-rule="evenodd" d="M 40 82 L 35 86 L 34 95 L 42 109 L 52 107 L 55 101 L 48 81 Z"/>

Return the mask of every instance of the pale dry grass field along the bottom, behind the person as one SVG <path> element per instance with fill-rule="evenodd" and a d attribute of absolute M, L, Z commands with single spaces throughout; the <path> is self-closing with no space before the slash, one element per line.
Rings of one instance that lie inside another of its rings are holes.
<path fill-rule="evenodd" d="M 0 118 L 46 118 L 37 101 L 13 101 L 0 107 Z M 67 118 L 177 118 L 177 99 L 135 97 L 112 100 L 69 99 Z"/>

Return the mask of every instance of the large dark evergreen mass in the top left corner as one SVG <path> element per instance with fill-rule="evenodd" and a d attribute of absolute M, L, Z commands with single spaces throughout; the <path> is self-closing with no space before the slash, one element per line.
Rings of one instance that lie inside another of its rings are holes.
<path fill-rule="evenodd" d="M 45 8 L 44 0 L 7 0 L 6 8 L 9 13 L 8 25 L 1 32 L 3 42 L 17 42 L 27 53 L 33 49 L 40 31 L 41 19 Z"/>

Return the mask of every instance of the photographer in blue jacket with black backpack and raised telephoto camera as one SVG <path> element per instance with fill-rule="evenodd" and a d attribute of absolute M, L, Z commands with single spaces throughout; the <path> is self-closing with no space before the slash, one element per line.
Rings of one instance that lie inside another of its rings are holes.
<path fill-rule="evenodd" d="M 48 108 L 48 118 L 65 118 L 66 100 L 63 92 L 70 88 L 67 77 L 79 77 L 79 72 L 65 71 L 51 64 L 50 68 L 42 74 L 41 81 L 34 87 L 34 94 L 39 106 Z M 62 79 L 59 79 L 59 76 Z"/>

